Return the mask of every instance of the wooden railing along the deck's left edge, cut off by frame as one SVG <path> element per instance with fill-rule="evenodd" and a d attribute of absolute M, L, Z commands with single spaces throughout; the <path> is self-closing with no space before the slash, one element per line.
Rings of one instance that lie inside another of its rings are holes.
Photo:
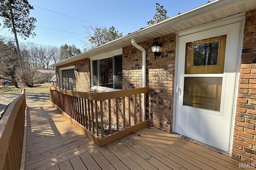
<path fill-rule="evenodd" d="M 0 170 L 24 168 L 26 149 L 23 148 L 25 125 L 25 90 L 14 99 L 0 120 Z M 22 161 L 21 161 L 22 160 Z"/>

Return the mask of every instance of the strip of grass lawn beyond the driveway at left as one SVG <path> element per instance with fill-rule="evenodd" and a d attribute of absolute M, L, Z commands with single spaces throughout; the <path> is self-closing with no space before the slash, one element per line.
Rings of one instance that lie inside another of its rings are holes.
<path fill-rule="evenodd" d="M 19 86 L 20 88 L 15 88 L 14 86 L 0 87 L 0 94 L 20 94 L 22 88 L 26 89 L 26 93 L 36 93 L 36 92 L 49 92 L 48 87 L 51 83 L 44 83 L 34 87 Z"/>

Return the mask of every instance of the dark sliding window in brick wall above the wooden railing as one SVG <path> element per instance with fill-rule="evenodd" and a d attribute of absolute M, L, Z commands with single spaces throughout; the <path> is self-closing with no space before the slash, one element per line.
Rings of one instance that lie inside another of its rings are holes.
<path fill-rule="evenodd" d="M 93 86 L 122 89 L 122 69 L 122 55 L 93 60 Z"/>

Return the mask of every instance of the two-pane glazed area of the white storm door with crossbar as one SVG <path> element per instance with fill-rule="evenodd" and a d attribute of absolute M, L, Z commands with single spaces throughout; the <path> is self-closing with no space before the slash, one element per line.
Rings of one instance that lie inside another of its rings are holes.
<path fill-rule="evenodd" d="M 225 49 L 226 35 L 186 43 L 183 106 L 220 111 Z"/>

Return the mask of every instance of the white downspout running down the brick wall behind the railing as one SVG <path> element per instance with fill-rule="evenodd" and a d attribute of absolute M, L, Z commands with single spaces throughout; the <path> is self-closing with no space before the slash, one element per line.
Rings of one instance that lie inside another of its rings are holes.
<path fill-rule="evenodd" d="M 136 44 L 135 39 L 131 39 L 132 45 L 142 51 L 142 87 L 146 87 L 146 50 L 140 45 Z M 142 95 L 142 121 L 146 120 L 146 104 L 145 104 L 144 95 Z"/>

